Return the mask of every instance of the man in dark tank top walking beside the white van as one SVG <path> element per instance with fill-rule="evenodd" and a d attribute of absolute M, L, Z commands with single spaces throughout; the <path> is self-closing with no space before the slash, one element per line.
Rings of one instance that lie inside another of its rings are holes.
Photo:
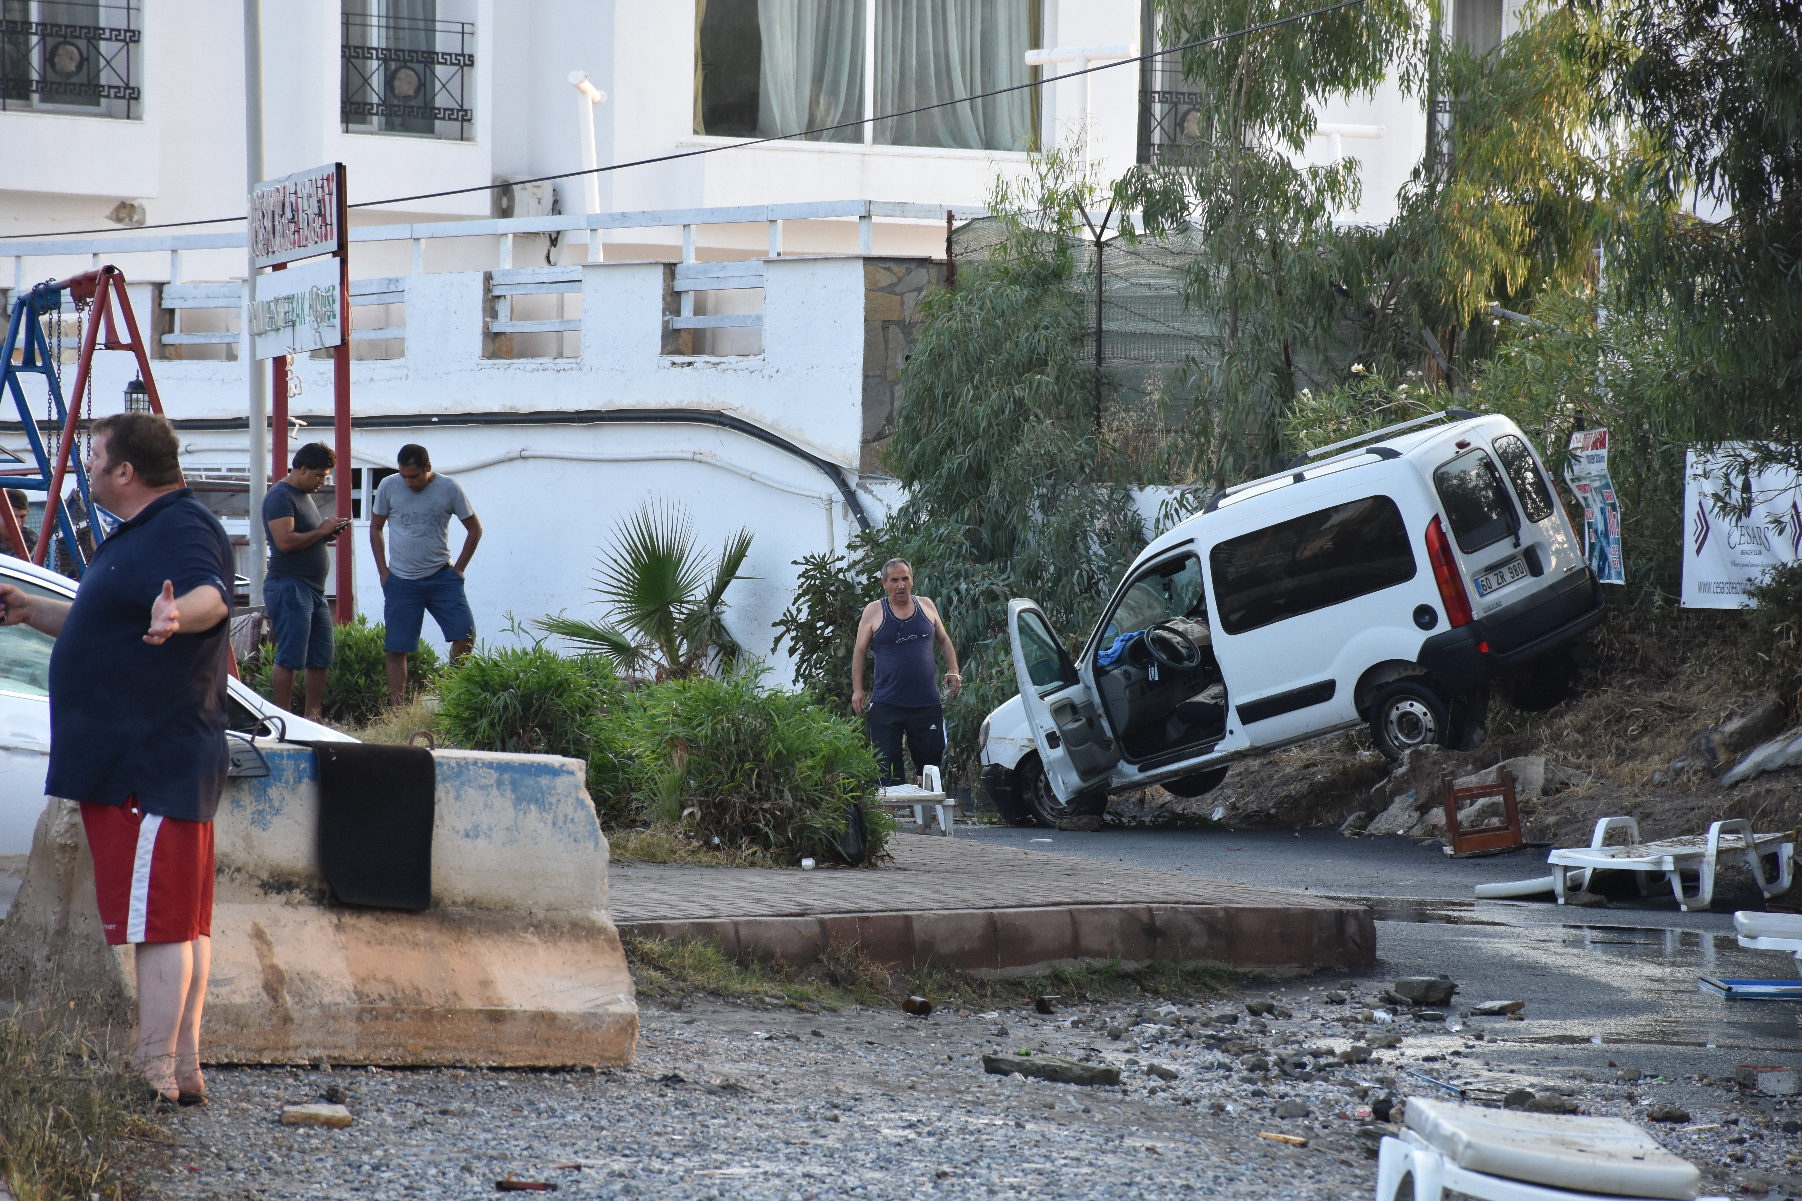
<path fill-rule="evenodd" d="M 933 648 L 944 652 L 944 686 L 957 695 L 964 677 L 957 673 L 957 646 L 944 632 L 939 607 L 914 596 L 914 567 L 905 558 L 883 564 L 879 601 L 870 601 L 858 619 L 858 645 L 851 652 L 851 708 L 869 709 L 870 742 L 883 760 L 883 783 L 901 783 L 901 742 L 906 740 L 914 774 L 928 763 L 944 765 L 944 706 L 939 700 L 939 664 Z M 863 655 L 876 652 L 876 688 L 863 691 Z"/>

